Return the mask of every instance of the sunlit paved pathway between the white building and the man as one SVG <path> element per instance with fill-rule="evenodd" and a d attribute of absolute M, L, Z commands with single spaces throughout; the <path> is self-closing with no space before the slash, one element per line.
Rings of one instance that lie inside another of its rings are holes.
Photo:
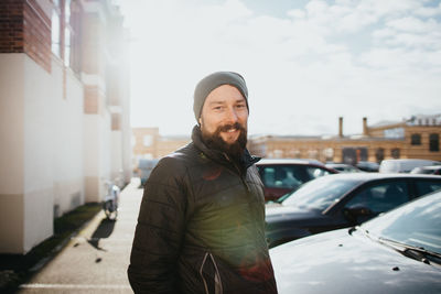
<path fill-rule="evenodd" d="M 18 293 L 132 293 L 127 266 L 142 189 L 133 178 L 121 192 L 117 221 L 98 214 Z"/>

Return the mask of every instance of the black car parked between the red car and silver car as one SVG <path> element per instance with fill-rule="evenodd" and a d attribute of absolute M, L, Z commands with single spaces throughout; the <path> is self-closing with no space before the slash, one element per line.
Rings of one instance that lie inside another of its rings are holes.
<path fill-rule="evenodd" d="M 353 173 L 313 179 L 276 207 L 267 206 L 269 247 L 362 224 L 441 188 L 433 175 Z"/>

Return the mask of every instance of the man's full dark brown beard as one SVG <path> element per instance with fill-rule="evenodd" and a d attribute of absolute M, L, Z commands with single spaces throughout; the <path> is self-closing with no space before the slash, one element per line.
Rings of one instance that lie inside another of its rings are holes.
<path fill-rule="evenodd" d="M 220 137 L 220 132 L 226 132 L 230 129 L 237 129 L 240 131 L 239 137 L 232 144 L 225 142 Z M 233 124 L 220 126 L 214 133 L 202 131 L 202 139 L 207 148 L 225 152 L 228 156 L 233 157 L 233 160 L 238 161 L 244 155 L 247 145 L 247 130 L 240 123 L 236 122 Z"/>

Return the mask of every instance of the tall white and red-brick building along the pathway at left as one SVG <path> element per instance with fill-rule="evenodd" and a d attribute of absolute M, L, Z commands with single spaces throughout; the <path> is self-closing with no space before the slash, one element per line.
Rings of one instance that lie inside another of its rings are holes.
<path fill-rule="evenodd" d="M 0 1 L 1 253 L 130 181 L 127 37 L 108 0 Z"/>

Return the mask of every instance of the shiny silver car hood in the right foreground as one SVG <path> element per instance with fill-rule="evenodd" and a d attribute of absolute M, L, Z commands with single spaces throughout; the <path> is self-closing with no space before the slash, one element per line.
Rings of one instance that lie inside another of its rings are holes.
<path fill-rule="evenodd" d="M 359 231 L 325 232 L 270 250 L 279 294 L 441 293 L 441 268 Z"/>

